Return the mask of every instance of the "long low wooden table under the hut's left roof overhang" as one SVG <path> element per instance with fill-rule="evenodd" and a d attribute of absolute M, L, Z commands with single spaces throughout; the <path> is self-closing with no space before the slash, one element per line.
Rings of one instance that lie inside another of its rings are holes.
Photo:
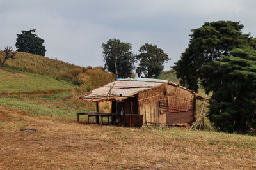
<path fill-rule="evenodd" d="M 113 117 L 118 117 L 118 120 L 120 120 L 120 114 L 117 113 L 100 113 L 100 112 L 88 112 L 88 113 L 77 113 L 77 122 L 80 122 L 80 115 L 87 115 L 87 123 L 89 124 L 89 118 L 90 117 L 96 117 L 96 123 L 99 124 L 99 117 L 100 118 L 100 125 L 103 124 L 103 117 L 108 117 L 108 124 L 109 124 L 109 117 L 111 118 L 111 123 L 114 124 L 113 122 Z M 120 122 L 120 121 L 118 121 Z"/>

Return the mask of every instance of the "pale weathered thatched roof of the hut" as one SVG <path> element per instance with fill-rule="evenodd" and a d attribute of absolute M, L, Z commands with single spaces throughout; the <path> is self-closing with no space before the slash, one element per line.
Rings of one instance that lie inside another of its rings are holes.
<path fill-rule="evenodd" d="M 152 89 L 153 87 L 157 87 L 159 85 L 163 85 L 164 83 L 180 87 L 184 90 L 188 90 L 189 92 L 193 93 L 197 99 L 204 99 L 204 97 L 196 94 L 189 89 L 186 89 L 185 87 L 182 87 L 167 80 L 153 78 L 118 79 L 112 83 L 104 85 L 103 87 L 99 87 L 92 90 L 91 92 L 79 96 L 79 99 L 83 99 L 85 101 L 122 101 L 124 99 L 127 99 L 128 97 L 134 97 L 134 95 L 142 91 Z"/>

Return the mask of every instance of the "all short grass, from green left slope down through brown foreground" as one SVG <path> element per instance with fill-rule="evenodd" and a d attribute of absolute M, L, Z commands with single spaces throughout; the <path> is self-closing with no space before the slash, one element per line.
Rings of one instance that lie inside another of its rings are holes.
<path fill-rule="evenodd" d="M 0 95 L 0 169 L 256 169 L 256 137 L 100 127 L 85 116 L 79 124 L 76 113 L 93 105 L 72 103 L 72 92 L 54 93 L 71 83 L 8 69 L 0 80 L 10 94 Z"/>

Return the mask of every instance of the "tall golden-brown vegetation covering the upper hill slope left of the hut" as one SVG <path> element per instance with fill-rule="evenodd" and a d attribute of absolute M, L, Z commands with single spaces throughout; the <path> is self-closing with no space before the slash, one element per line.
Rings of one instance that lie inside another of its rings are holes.
<path fill-rule="evenodd" d="M 79 89 L 81 92 L 87 92 L 88 90 L 95 89 L 115 80 L 115 76 L 104 71 L 102 67 L 79 67 L 57 59 L 49 59 L 48 57 L 33 55 L 26 52 L 17 52 L 15 57 L 16 59 L 7 60 L 7 69 L 9 68 L 12 71 L 17 72 L 25 71 L 37 75 L 50 76 L 58 80 L 71 81 L 74 85 L 82 87 Z M 3 56 L 0 55 L 0 62 L 1 60 L 3 60 Z M 4 70 L 6 70 L 6 68 Z M 44 78 L 40 76 L 38 76 L 38 79 L 35 78 L 34 80 L 40 80 L 41 78 L 42 81 L 44 81 Z M 35 87 L 35 85 L 33 87 Z M 58 85 L 58 83 L 56 85 Z"/>

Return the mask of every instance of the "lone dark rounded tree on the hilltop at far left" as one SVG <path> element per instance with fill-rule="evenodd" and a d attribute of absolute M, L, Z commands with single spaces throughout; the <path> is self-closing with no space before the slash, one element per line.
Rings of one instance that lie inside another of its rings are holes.
<path fill-rule="evenodd" d="M 17 34 L 16 48 L 18 52 L 28 52 L 36 55 L 45 56 L 45 46 L 43 45 L 44 39 L 38 37 L 33 32 L 35 29 L 29 31 L 21 31 L 22 34 Z"/>

